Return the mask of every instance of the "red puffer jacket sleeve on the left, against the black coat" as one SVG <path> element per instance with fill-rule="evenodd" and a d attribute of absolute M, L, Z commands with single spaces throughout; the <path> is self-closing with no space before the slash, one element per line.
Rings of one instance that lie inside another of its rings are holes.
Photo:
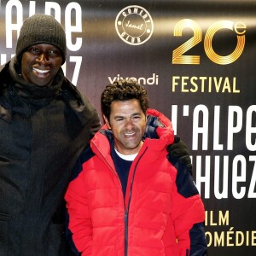
<path fill-rule="evenodd" d="M 68 228 L 73 234 L 75 247 L 82 255 L 91 255 L 92 224 L 87 204 L 86 189 L 84 189 L 84 172 L 73 179 L 67 188 Z"/>

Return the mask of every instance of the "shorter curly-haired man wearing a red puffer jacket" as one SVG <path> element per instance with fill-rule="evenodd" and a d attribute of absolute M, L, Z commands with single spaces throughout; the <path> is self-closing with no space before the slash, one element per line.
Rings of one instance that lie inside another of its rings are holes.
<path fill-rule="evenodd" d="M 188 166 L 166 151 L 171 121 L 148 108 L 146 90 L 132 80 L 106 87 L 102 112 L 106 125 L 81 155 L 65 196 L 79 252 L 206 255 L 201 197 Z M 154 136 L 144 138 L 151 126 Z"/>

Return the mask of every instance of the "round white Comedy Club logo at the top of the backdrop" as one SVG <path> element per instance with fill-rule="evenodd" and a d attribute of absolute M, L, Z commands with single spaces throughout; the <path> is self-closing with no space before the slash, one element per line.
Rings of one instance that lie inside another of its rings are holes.
<path fill-rule="evenodd" d="M 148 41 L 154 24 L 148 11 L 141 6 L 131 5 L 122 9 L 115 19 L 115 29 L 126 44 L 139 45 Z"/>

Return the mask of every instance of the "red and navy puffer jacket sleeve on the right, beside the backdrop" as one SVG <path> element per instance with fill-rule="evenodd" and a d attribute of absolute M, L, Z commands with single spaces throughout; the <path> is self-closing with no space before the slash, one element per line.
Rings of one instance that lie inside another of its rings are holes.
<path fill-rule="evenodd" d="M 177 157 L 169 157 L 177 169 L 172 194 L 172 220 L 177 237 L 177 255 L 207 255 L 204 231 L 205 209 L 189 169 Z"/>

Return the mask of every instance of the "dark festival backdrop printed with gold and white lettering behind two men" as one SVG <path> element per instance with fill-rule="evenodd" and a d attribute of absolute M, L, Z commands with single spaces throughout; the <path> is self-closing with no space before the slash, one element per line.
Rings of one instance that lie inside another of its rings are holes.
<path fill-rule="evenodd" d="M 145 84 L 150 107 L 188 144 L 209 255 L 256 255 L 256 2 L 0 1 L 0 62 L 23 20 L 67 32 L 67 78 L 100 112 L 105 85 Z"/>

